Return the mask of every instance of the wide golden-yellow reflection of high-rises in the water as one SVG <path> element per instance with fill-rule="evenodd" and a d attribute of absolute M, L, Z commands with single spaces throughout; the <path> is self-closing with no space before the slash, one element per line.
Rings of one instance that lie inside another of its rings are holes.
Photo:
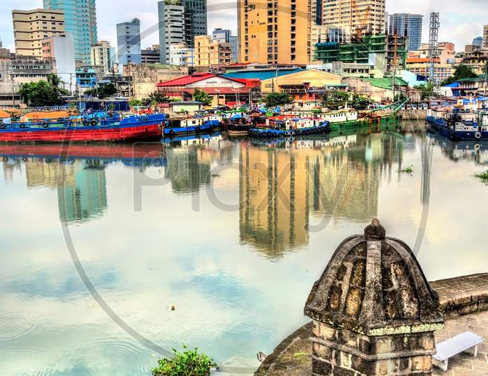
<path fill-rule="evenodd" d="M 366 223 L 376 217 L 383 174 L 401 164 L 402 141 L 388 134 L 241 146 L 241 242 L 275 258 L 308 244 L 309 222 Z"/>

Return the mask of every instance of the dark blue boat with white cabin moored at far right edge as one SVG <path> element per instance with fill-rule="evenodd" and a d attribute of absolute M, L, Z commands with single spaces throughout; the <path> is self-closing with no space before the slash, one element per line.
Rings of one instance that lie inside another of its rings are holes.
<path fill-rule="evenodd" d="M 488 140 L 488 112 L 452 110 L 427 110 L 426 125 L 452 141 Z"/>

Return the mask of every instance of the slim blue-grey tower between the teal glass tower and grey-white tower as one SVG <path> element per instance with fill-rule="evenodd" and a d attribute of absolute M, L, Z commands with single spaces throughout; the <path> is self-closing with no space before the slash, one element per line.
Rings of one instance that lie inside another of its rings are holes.
<path fill-rule="evenodd" d="M 141 63 L 141 23 L 139 19 L 117 24 L 117 59 L 119 68 L 125 64 Z"/>

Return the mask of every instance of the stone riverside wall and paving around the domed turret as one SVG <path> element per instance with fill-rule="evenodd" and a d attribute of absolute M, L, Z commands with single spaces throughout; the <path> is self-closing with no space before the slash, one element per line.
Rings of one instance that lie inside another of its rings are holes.
<path fill-rule="evenodd" d="M 436 332 L 436 342 L 473 331 L 488 338 L 488 273 L 460 276 L 430 283 L 439 293 L 445 329 Z M 278 345 L 261 364 L 255 376 L 312 375 L 312 322 L 305 324 Z M 488 375 L 488 345 L 477 357 L 460 355 L 450 361 L 447 373 L 434 368 L 433 375 Z"/>

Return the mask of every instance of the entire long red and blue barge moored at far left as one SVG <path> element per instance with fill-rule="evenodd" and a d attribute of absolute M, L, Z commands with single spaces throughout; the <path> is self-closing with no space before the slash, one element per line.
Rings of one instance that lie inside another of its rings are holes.
<path fill-rule="evenodd" d="M 12 123 L 3 118 L 0 142 L 116 142 L 160 139 L 165 115 L 58 118 Z"/>

